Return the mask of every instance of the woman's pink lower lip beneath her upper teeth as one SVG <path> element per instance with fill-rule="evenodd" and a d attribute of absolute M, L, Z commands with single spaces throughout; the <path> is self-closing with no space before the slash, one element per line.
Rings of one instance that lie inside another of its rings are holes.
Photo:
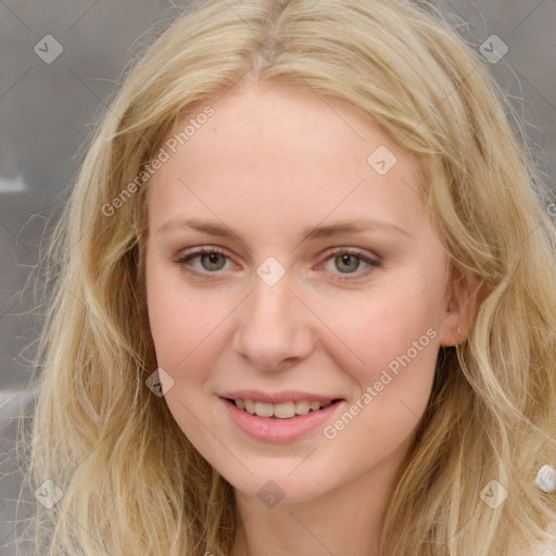
<path fill-rule="evenodd" d="M 296 415 L 288 419 L 258 417 L 239 409 L 232 402 L 220 397 L 228 408 L 231 420 L 243 431 L 258 440 L 270 442 L 288 442 L 296 440 L 309 430 L 316 429 L 329 419 L 343 401 L 330 404 L 324 409 L 309 412 L 307 415 Z"/>

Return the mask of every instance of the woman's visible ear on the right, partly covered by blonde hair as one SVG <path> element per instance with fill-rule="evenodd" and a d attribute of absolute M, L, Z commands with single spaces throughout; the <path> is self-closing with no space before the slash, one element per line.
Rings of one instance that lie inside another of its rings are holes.
<path fill-rule="evenodd" d="M 448 348 L 467 340 L 479 307 L 479 282 L 470 273 L 454 269 L 444 298 L 440 345 Z"/>

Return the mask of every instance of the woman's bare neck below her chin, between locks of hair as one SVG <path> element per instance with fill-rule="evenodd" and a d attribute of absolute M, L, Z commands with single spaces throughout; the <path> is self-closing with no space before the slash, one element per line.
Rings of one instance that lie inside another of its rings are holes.
<path fill-rule="evenodd" d="M 395 471 L 375 467 L 318 497 L 273 507 L 236 490 L 232 556 L 330 556 L 348 546 L 351 556 L 378 556 Z"/>

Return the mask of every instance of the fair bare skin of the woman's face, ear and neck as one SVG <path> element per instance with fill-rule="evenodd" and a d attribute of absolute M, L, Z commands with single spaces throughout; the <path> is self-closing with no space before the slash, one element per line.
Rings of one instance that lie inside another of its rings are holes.
<path fill-rule="evenodd" d="M 174 381 L 166 403 L 235 489 L 233 556 L 328 556 L 345 546 L 376 555 L 439 346 L 463 341 L 469 318 L 467 301 L 448 295 L 418 163 L 370 119 L 315 94 L 250 84 L 210 104 L 214 116 L 156 172 L 148 195 L 149 323 L 157 364 Z M 383 176 L 367 163 L 380 146 L 397 159 Z M 190 217 L 224 223 L 236 237 L 160 230 Z M 299 241 L 306 226 L 356 217 L 406 233 Z M 200 245 L 226 256 L 176 262 Z M 342 264 L 334 248 L 359 249 L 381 266 Z M 256 274 L 269 256 L 286 271 L 271 287 Z M 342 397 L 333 424 L 430 328 L 435 338 L 334 439 L 323 427 L 291 442 L 253 439 L 217 396 L 257 389 Z M 257 496 L 269 480 L 283 493 L 274 507 Z"/>

